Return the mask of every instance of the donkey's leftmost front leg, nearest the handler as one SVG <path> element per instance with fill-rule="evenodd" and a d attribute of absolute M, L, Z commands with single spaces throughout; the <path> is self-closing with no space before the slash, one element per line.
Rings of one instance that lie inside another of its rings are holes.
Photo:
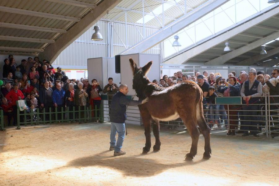
<path fill-rule="evenodd" d="M 141 114 L 144 123 L 145 147 L 142 153 L 146 154 L 151 148 L 151 116 L 149 114 Z"/>

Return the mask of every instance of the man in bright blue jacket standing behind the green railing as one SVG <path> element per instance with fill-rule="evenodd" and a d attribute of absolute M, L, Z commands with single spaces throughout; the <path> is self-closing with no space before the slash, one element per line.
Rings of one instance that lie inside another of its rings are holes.
<path fill-rule="evenodd" d="M 57 112 L 61 112 L 61 108 L 65 107 L 64 99 L 63 99 L 64 94 L 65 94 L 65 91 L 61 88 L 61 84 L 58 83 L 56 85 L 56 89 L 52 93 L 52 101 L 53 101 L 54 106 L 57 107 Z M 65 109 L 63 111 L 65 111 Z M 61 114 L 60 113 L 58 114 L 57 119 L 58 120 L 61 119 Z"/>

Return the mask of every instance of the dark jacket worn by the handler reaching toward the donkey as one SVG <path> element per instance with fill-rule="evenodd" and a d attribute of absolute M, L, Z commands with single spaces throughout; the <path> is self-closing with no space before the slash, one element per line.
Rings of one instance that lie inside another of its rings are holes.
<path fill-rule="evenodd" d="M 110 122 L 124 123 L 126 120 L 126 105 L 136 106 L 141 101 L 129 100 L 122 92 L 117 92 L 111 101 Z"/>

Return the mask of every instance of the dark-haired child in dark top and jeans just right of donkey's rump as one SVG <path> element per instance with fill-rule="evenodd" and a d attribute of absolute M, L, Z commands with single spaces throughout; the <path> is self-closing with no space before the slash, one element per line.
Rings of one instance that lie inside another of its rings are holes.
<path fill-rule="evenodd" d="M 215 98 L 218 97 L 218 95 L 215 93 L 214 86 L 210 86 L 208 88 L 208 91 L 209 97 L 206 99 L 207 105 L 209 106 L 210 110 L 210 115 L 208 116 L 210 120 L 208 125 L 210 126 L 210 128 L 212 128 L 214 124 L 217 124 L 218 128 L 221 128 L 221 126 L 219 125 L 219 105 L 215 105 Z"/>

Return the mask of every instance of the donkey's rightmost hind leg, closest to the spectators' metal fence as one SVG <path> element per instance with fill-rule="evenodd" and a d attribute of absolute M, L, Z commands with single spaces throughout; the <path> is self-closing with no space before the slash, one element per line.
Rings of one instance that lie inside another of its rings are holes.
<path fill-rule="evenodd" d="M 203 158 L 204 159 L 209 159 L 211 156 L 211 147 L 210 147 L 210 128 L 206 124 L 206 121 L 203 116 L 203 111 L 202 111 L 202 104 L 201 102 L 197 104 L 196 108 L 197 112 L 197 124 L 201 129 L 201 133 L 204 136 L 204 153 L 203 153 Z"/>

